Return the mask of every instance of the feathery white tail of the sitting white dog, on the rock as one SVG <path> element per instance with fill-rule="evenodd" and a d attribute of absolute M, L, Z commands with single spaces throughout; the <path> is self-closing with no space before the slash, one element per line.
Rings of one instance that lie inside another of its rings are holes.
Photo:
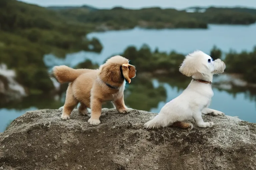
<path fill-rule="evenodd" d="M 144 124 L 144 128 L 152 129 L 152 128 L 161 128 L 161 127 L 167 127 L 170 126 L 173 122 L 170 122 L 165 116 L 163 115 L 156 115 L 154 119 L 151 121 L 148 121 Z"/>

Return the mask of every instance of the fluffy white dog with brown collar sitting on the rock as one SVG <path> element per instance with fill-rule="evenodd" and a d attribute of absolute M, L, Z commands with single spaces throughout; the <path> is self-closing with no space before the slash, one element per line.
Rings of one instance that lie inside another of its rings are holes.
<path fill-rule="evenodd" d="M 224 113 L 209 109 L 213 91 L 211 87 L 213 74 L 223 73 L 226 65 L 220 59 L 213 60 L 202 51 L 194 51 L 183 60 L 179 71 L 190 77 L 192 81 L 181 95 L 171 100 L 161 109 L 160 113 L 151 121 L 144 124 L 144 128 L 160 128 L 177 126 L 193 128 L 192 124 L 184 121 L 195 121 L 201 128 L 213 126 L 212 122 L 204 122 L 202 114 L 214 116 Z"/>

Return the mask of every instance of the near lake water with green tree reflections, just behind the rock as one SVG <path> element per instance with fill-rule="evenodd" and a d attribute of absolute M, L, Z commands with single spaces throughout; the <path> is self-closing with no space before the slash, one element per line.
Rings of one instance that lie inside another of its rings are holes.
<path fill-rule="evenodd" d="M 191 78 L 157 77 L 137 74 L 131 84 L 126 84 L 125 104 L 133 109 L 158 113 L 165 103 L 174 99 L 188 86 Z M 58 109 L 64 105 L 67 84 L 61 86 L 62 92 L 55 95 L 35 95 L 0 104 L 0 132 L 4 131 L 7 124 L 21 116 L 26 111 L 37 109 Z M 220 110 L 226 115 L 238 116 L 240 119 L 256 122 L 256 89 L 248 87 L 232 87 L 223 90 L 218 85 L 213 85 L 214 96 L 210 107 Z M 103 108 L 112 108 L 106 102 Z"/>

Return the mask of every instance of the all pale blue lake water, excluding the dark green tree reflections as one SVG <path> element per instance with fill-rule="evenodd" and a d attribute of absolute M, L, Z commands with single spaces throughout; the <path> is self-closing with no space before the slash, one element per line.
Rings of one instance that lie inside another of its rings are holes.
<path fill-rule="evenodd" d="M 174 29 L 174 30 L 145 30 L 135 28 L 124 31 L 108 31 L 88 34 L 88 38 L 96 37 L 103 44 L 101 53 L 80 51 L 67 54 L 65 58 L 57 58 L 51 54 L 45 55 L 44 62 L 51 68 L 55 65 L 68 65 L 74 67 L 86 59 L 94 63 L 103 63 L 110 56 L 120 54 L 129 45 L 141 47 L 148 44 L 152 50 L 156 47 L 160 51 L 177 52 L 187 54 L 196 49 L 209 53 L 213 45 L 217 45 L 221 50 L 228 52 L 234 49 L 237 52 L 242 50 L 252 50 L 256 45 L 256 24 L 250 26 L 230 26 L 230 25 L 209 25 L 209 29 Z M 153 81 L 157 86 L 157 80 Z M 160 83 L 161 84 L 161 83 Z M 166 101 L 158 103 L 158 107 L 149 111 L 158 113 L 166 102 L 177 97 L 182 90 L 173 87 L 168 83 L 162 83 L 167 91 Z M 248 97 L 250 92 L 236 93 L 235 96 L 227 91 L 219 91 L 213 88 L 214 96 L 210 108 L 224 112 L 226 115 L 238 116 L 240 119 L 256 122 L 256 102 Z M 140 101 L 138 101 L 140 102 Z M 36 107 L 29 106 L 24 110 L 0 109 L 0 132 L 4 131 L 7 124 L 13 119 L 24 114 L 28 110 L 35 110 Z M 57 109 L 57 108 L 56 108 Z M 135 108 L 136 109 L 136 106 Z"/>

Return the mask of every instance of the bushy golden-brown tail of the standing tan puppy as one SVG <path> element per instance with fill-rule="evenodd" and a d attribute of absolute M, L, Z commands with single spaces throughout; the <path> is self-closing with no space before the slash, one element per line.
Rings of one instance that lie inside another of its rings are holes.
<path fill-rule="evenodd" d="M 88 72 L 90 69 L 73 69 L 66 65 L 53 67 L 52 76 L 55 77 L 59 83 L 73 82 L 78 76 Z"/>

